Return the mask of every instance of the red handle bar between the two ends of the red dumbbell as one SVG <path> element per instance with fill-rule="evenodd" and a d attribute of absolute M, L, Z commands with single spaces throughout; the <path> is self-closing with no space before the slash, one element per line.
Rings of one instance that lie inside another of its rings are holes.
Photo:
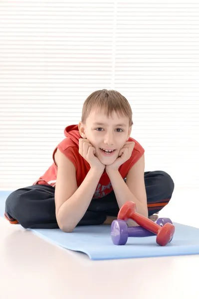
<path fill-rule="evenodd" d="M 156 235 L 162 228 L 160 225 L 156 224 L 151 219 L 149 219 L 137 212 L 131 213 L 130 218 L 133 219 L 140 226 L 144 227 L 145 229 L 149 230 L 150 232 L 152 232 Z"/>

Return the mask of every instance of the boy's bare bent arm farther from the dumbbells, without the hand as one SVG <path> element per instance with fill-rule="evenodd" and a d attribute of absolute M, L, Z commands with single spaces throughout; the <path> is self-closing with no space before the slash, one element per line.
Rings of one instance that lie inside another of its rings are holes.
<path fill-rule="evenodd" d="M 62 231 L 72 232 L 84 216 L 103 170 L 90 168 L 77 188 L 75 166 L 59 150 L 56 163 L 58 165 L 55 187 L 56 219 Z"/>

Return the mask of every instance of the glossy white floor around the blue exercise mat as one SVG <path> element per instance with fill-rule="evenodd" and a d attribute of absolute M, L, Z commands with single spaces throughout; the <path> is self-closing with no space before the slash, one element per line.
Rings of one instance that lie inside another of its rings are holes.
<path fill-rule="evenodd" d="M 199 227 L 198 209 L 189 208 L 197 194 L 175 192 L 160 217 Z M 3 218 L 0 266 L 0 299 L 199 298 L 199 255 L 91 261 Z"/>

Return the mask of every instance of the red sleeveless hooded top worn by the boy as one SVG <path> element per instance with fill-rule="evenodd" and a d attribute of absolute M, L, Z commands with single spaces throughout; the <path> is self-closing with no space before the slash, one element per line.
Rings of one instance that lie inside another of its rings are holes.
<path fill-rule="evenodd" d="M 79 139 L 81 138 L 81 136 L 79 134 L 78 125 L 71 125 L 66 127 L 64 130 L 64 135 L 66 136 L 66 138 L 64 138 L 53 151 L 52 165 L 42 176 L 40 176 L 33 183 L 33 185 L 45 184 L 51 185 L 52 187 L 56 186 L 57 165 L 54 160 L 54 154 L 57 149 L 59 149 L 74 164 L 76 169 L 77 186 L 79 187 L 81 185 L 90 169 L 90 164 L 79 153 Z M 135 139 L 130 137 L 128 141 L 134 141 L 135 146 L 132 151 L 131 157 L 118 169 L 123 179 L 127 176 L 129 169 L 140 159 L 140 157 L 145 152 L 145 149 L 143 149 Z M 112 190 L 113 188 L 111 185 L 111 181 L 106 173 L 106 170 L 104 170 L 94 192 L 93 198 L 103 197 L 110 193 Z"/>

